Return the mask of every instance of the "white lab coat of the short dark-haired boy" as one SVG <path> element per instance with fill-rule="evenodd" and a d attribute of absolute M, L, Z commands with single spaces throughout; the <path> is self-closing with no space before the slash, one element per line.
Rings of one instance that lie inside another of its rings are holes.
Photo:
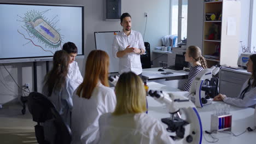
<path fill-rule="evenodd" d="M 83 82 L 84 79 L 80 73 L 77 62 L 73 61 L 69 64 L 67 77 L 72 80 L 74 88 L 77 88 Z"/>

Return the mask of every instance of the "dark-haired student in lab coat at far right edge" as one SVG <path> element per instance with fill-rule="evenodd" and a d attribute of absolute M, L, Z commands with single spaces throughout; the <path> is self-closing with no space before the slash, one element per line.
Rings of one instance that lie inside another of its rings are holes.
<path fill-rule="evenodd" d="M 256 104 L 256 54 L 249 57 L 246 66 L 247 71 L 252 73 L 252 75 L 243 84 L 240 94 L 236 98 L 229 98 L 225 94 L 218 94 L 213 100 L 223 100 L 225 103 L 237 107 L 254 107 Z"/>

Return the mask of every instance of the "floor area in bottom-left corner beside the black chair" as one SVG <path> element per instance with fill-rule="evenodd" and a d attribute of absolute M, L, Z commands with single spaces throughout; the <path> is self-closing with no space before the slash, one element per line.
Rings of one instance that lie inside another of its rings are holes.
<path fill-rule="evenodd" d="M 0 143 L 37 143 L 32 116 L 28 110 L 21 113 L 22 106 L 15 99 L 0 109 Z"/>

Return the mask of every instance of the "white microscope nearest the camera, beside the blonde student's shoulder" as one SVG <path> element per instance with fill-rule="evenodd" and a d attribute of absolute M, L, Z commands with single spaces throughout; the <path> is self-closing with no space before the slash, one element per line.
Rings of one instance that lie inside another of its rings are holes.
<path fill-rule="evenodd" d="M 162 118 L 168 125 L 167 131 L 176 143 L 201 143 L 202 124 L 195 105 L 183 95 L 173 95 L 162 91 L 149 91 L 149 95 L 167 106 L 171 117 Z"/>

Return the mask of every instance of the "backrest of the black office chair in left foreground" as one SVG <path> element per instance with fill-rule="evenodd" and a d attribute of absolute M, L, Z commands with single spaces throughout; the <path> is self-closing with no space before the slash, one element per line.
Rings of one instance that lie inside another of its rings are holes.
<path fill-rule="evenodd" d="M 51 108 L 55 106 L 42 93 L 31 92 L 28 95 L 27 105 L 34 122 L 44 123 L 52 118 Z"/>

